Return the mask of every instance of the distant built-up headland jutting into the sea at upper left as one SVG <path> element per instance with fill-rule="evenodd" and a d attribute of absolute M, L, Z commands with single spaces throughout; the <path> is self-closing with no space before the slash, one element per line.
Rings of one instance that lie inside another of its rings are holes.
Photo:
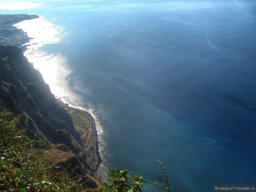
<path fill-rule="evenodd" d="M 0 14 L 0 45 L 21 46 L 31 38 L 27 33 L 13 27 L 19 22 L 39 18 L 36 14 Z"/>

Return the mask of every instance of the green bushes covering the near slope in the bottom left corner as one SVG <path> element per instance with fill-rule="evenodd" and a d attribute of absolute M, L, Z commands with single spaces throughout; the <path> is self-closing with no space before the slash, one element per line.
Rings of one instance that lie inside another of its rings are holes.
<path fill-rule="evenodd" d="M 83 191 L 79 177 L 43 161 L 52 149 L 17 130 L 18 122 L 1 112 L 0 191 Z"/>

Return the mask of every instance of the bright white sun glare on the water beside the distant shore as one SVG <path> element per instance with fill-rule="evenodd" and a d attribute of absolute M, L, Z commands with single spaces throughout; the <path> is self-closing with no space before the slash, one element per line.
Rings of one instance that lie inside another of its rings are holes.
<path fill-rule="evenodd" d="M 43 75 L 46 83 L 50 85 L 53 94 L 62 95 L 60 90 L 66 85 L 66 76 L 69 74 L 66 68 L 66 57 L 61 53 L 48 53 L 46 46 L 50 44 L 63 43 L 68 33 L 65 28 L 40 16 L 36 19 L 26 20 L 13 25 L 25 31 L 31 37 L 24 45 L 27 49 L 24 55 L 29 62 L 33 63 L 34 68 Z M 33 26 L 33 27 L 31 27 Z"/>

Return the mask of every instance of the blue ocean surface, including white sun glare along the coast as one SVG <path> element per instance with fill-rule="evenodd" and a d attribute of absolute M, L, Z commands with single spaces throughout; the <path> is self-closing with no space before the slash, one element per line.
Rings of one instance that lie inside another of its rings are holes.
<path fill-rule="evenodd" d="M 0 13 L 40 16 L 17 24 L 34 38 L 25 56 L 94 116 L 106 174 L 164 191 L 159 159 L 171 191 L 256 184 L 255 1 L 19 3 Z"/>

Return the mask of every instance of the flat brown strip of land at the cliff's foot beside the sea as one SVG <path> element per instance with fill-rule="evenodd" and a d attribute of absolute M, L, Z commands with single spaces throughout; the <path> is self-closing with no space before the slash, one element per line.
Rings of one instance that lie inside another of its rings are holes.
<path fill-rule="evenodd" d="M 71 115 L 74 127 L 83 141 L 83 147 L 87 154 L 87 163 L 94 170 L 94 178 L 99 183 L 107 182 L 107 176 L 100 167 L 102 162 L 100 152 L 97 127 L 92 115 L 86 110 L 76 109 L 63 103 L 59 98 L 56 99 L 60 106 L 64 107 Z"/>

